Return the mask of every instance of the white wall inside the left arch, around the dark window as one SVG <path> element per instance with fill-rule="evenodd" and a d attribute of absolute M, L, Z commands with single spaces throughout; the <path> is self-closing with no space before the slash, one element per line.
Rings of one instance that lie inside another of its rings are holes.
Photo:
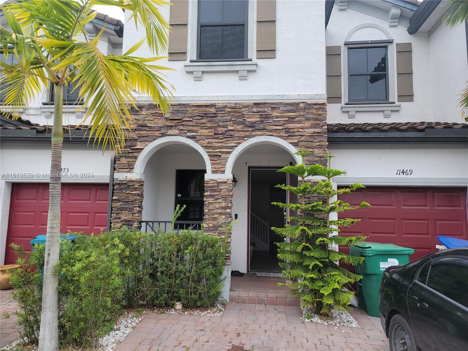
<path fill-rule="evenodd" d="M 205 169 L 203 157 L 189 146 L 165 146 L 145 168 L 143 220 L 170 221 L 174 214 L 176 169 Z"/>

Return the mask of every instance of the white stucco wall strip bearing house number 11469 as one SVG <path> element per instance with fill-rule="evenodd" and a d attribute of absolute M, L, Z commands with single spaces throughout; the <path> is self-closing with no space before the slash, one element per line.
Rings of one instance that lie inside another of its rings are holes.
<path fill-rule="evenodd" d="M 347 174 L 338 184 L 467 186 L 467 144 L 353 144 L 328 146 L 336 157 L 332 167 Z M 397 175 L 401 169 L 411 175 Z"/>

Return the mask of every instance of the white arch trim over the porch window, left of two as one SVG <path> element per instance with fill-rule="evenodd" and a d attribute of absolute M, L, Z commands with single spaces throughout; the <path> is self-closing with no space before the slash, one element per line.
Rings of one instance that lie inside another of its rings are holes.
<path fill-rule="evenodd" d="M 195 150 L 198 151 L 200 155 L 202 155 L 203 160 L 205 161 L 206 165 L 206 174 L 211 174 L 211 161 L 208 157 L 208 154 L 203 149 L 203 147 L 199 146 L 195 141 L 184 138 L 184 137 L 163 137 L 157 140 L 152 141 L 149 143 L 143 151 L 139 154 L 137 161 L 135 162 L 135 167 L 133 168 L 134 173 L 144 173 L 146 163 L 150 159 L 151 156 L 156 153 L 156 151 L 160 150 L 164 146 L 173 145 L 173 144 L 180 144 L 180 145 L 187 145 Z"/>

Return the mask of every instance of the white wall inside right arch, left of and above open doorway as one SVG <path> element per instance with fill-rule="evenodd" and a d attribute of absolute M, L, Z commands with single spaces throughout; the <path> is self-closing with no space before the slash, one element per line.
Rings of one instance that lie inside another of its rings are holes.
<path fill-rule="evenodd" d="M 233 174 L 237 185 L 233 189 L 233 218 L 238 215 L 234 225 L 231 241 L 231 269 L 247 272 L 247 201 L 249 167 L 254 166 L 287 166 L 294 162 L 292 156 L 279 147 L 271 146 L 271 154 L 254 154 L 255 146 L 249 154 L 241 154 L 234 163 Z M 246 164 L 247 163 L 247 164 Z M 294 162 L 295 163 L 295 162 Z"/>

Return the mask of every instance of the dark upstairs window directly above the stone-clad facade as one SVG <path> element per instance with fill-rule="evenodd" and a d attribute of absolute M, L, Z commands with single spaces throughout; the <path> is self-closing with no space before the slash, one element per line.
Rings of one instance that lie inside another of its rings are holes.
<path fill-rule="evenodd" d="M 247 24 L 247 0 L 199 0 L 197 59 L 247 59 Z"/>

